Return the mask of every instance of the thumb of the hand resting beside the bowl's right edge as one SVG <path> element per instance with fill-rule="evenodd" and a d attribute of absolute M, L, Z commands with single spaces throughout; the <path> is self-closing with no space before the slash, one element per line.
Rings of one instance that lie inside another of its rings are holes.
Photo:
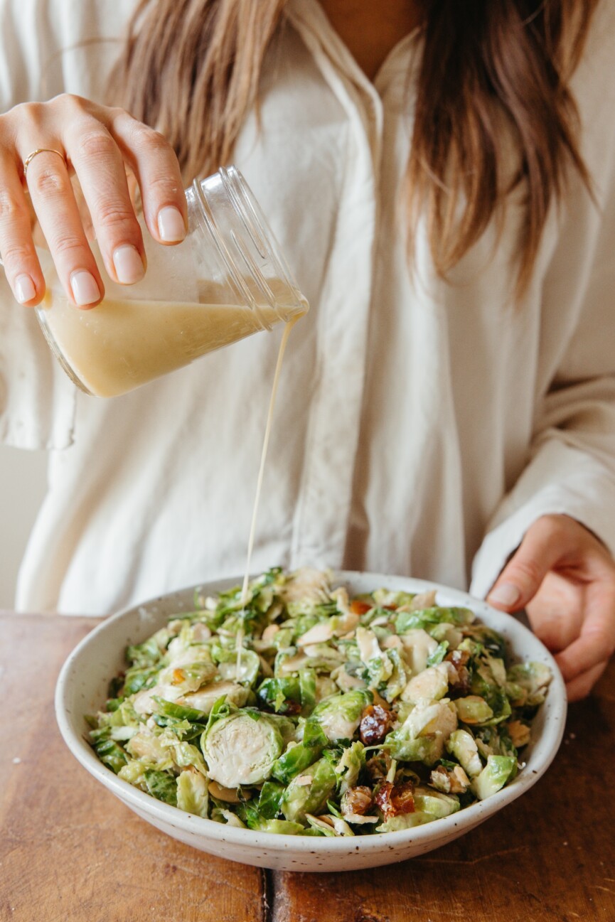
<path fill-rule="evenodd" d="M 562 557 L 557 526 L 543 516 L 529 527 L 521 544 L 491 586 L 487 601 L 504 611 L 518 611 L 536 595 L 547 573 Z"/>

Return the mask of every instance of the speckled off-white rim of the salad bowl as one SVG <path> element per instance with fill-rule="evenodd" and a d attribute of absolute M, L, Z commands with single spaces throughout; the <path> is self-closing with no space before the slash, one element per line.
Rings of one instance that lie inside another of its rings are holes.
<path fill-rule="evenodd" d="M 269 852 L 287 852 L 295 853 L 301 856 L 314 855 L 318 857 L 331 857 L 340 855 L 351 855 L 353 852 L 361 852 L 362 855 L 370 853 L 380 853 L 387 848 L 396 851 L 399 846 L 405 843 L 413 845 L 428 845 L 433 842 L 444 843 L 449 839 L 455 838 L 460 834 L 460 830 L 474 828 L 483 822 L 492 814 L 498 812 L 507 804 L 512 803 L 520 797 L 531 786 L 535 785 L 538 779 L 544 774 L 555 758 L 557 751 L 562 743 L 566 718 L 566 691 L 562 680 L 562 674 L 550 655 L 550 652 L 541 644 L 538 638 L 529 631 L 524 624 L 510 615 L 501 611 L 492 609 L 486 602 L 471 597 L 465 592 L 451 589 L 447 586 L 432 583 L 426 580 L 414 579 L 412 577 L 392 576 L 384 573 L 362 573 L 359 571 L 338 571 L 336 573 L 337 584 L 352 585 L 358 581 L 368 582 L 373 589 L 378 586 L 396 590 L 406 590 L 408 592 L 423 592 L 428 589 L 436 589 L 438 593 L 438 604 L 449 604 L 463 606 L 475 611 L 481 621 L 484 621 L 496 631 L 502 632 L 507 640 L 513 635 L 515 638 L 522 638 L 523 644 L 514 645 L 514 653 L 519 658 L 521 655 L 524 659 L 529 658 L 539 660 L 550 667 L 553 673 L 553 680 L 550 684 L 547 702 L 543 705 L 544 718 L 542 730 L 538 739 L 533 740 L 531 751 L 527 757 L 525 753 L 522 757 L 526 761 L 525 767 L 517 774 L 516 778 L 510 785 L 503 787 L 502 790 L 483 801 L 473 804 L 464 810 L 453 813 L 451 816 L 444 817 L 434 822 L 426 823 L 413 829 L 400 830 L 394 833 L 377 833 L 373 835 L 357 835 L 353 838 L 339 837 L 333 838 L 327 836 L 319 838 L 314 836 L 296 836 L 280 835 L 277 833 L 262 833 L 250 829 L 241 829 L 229 826 L 202 817 L 195 816 L 179 810 L 177 807 L 171 807 L 169 804 L 162 803 L 160 800 L 150 797 L 143 791 L 128 784 L 112 773 L 103 765 L 89 744 L 84 739 L 81 732 L 77 732 L 75 725 L 76 720 L 82 719 L 83 715 L 74 717 L 71 715 L 67 706 L 67 699 L 70 697 L 72 684 L 77 680 L 79 675 L 79 664 L 86 650 L 93 645 L 99 644 L 101 637 L 106 634 L 118 632 L 118 626 L 127 618 L 138 611 L 146 614 L 152 609 L 156 609 L 160 604 L 164 604 L 173 597 L 179 597 L 185 594 L 192 594 L 195 589 L 205 595 L 214 595 L 219 591 L 224 591 L 232 585 L 241 584 L 241 577 L 231 579 L 220 579 L 207 583 L 197 584 L 187 589 L 180 589 L 168 593 L 164 596 L 149 599 L 141 605 L 131 606 L 118 611 L 111 618 L 103 621 L 98 627 L 94 628 L 84 639 L 77 644 L 77 647 L 68 656 L 65 664 L 59 674 L 55 690 L 55 715 L 60 728 L 60 732 L 65 739 L 68 749 L 73 753 L 78 762 L 86 768 L 101 784 L 112 791 L 118 798 L 131 804 L 136 812 L 147 819 L 148 814 L 156 817 L 160 822 L 164 822 L 171 827 L 183 830 L 187 833 L 197 833 L 203 836 L 204 841 L 224 842 L 229 845 L 243 846 L 251 851 L 255 848 L 262 847 Z M 357 590 L 355 590 L 357 591 Z M 368 591 L 365 588 L 359 592 Z M 180 609 L 181 610 L 181 609 Z M 167 621 L 167 615 L 162 622 Z M 151 632 L 157 630 L 156 622 L 149 621 L 144 623 L 143 638 Z M 147 631 L 147 632 L 146 632 Z M 510 643 L 510 640 L 509 640 Z M 125 642 L 124 642 L 125 645 Z M 112 676 L 109 677 L 110 680 Z M 102 705 L 101 701 L 101 705 Z M 427 849 L 426 849 L 427 850 Z"/>

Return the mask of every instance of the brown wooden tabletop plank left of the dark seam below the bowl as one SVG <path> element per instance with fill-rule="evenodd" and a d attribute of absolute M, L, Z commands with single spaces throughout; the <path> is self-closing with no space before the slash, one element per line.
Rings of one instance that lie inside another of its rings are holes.
<path fill-rule="evenodd" d="M 55 680 L 96 623 L 0 617 L 0 919 L 261 922 L 260 869 L 159 833 L 66 749 L 53 716 Z"/>

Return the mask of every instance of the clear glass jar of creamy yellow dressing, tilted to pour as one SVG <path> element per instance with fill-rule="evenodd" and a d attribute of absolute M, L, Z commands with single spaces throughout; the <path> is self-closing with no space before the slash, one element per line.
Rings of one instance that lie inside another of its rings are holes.
<path fill-rule="evenodd" d="M 152 240 L 143 219 L 148 270 L 135 285 L 107 275 L 105 297 L 89 310 L 68 300 L 51 257 L 39 252 L 47 284 L 37 308 L 65 372 L 93 396 L 117 396 L 274 324 L 307 311 L 254 195 L 235 167 L 186 190 L 182 243 Z"/>

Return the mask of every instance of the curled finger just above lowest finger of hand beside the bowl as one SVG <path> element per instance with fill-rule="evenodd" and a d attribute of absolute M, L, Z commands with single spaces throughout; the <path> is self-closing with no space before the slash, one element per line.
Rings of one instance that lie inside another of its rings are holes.
<path fill-rule="evenodd" d="M 581 634 L 555 658 L 564 680 L 571 681 L 615 650 L 615 585 L 596 583 L 587 587 L 585 620 Z"/>

